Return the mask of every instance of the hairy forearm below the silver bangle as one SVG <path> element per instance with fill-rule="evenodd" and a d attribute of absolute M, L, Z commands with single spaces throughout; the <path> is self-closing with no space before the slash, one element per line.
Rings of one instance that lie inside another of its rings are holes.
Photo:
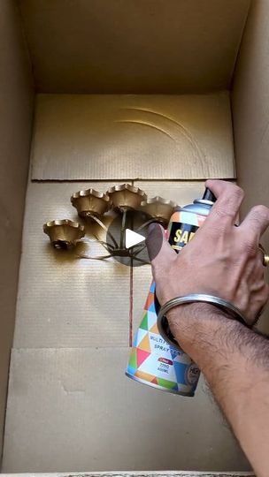
<path fill-rule="evenodd" d="M 168 314 L 174 337 L 203 371 L 258 476 L 269 475 L 269 341 L 216 307 Z"/>

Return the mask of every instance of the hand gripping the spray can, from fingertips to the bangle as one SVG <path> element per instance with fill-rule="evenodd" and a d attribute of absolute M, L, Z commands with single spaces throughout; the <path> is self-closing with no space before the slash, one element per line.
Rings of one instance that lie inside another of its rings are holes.
<path fill-rule="evenodd" d="M 188 293 L 207 293 L 227 299 L 253 324 L 269 297 L 265 284 L 263 254 L 259 241 L 269 224 L 269 209 L 257 206 L 235 227 L 243 199 L 242 189 L 221 180 L 206 186 L 217 197 L 205 223 L 195 237 L 176 254 L 165 239 L 163 228 L 151 226 L 147 239 L 149 254 L 163 236 L 158 255 L 151 261 L 158 300 Z M 169 315 L 168 315 L 169 317 Z"/>

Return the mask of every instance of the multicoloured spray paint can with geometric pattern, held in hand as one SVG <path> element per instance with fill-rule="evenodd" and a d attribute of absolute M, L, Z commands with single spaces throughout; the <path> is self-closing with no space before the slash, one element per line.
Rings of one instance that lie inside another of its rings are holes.
<path fill-rule="evenodd" d="M 167 233 L 169 243 L 176 252 L 180 252 L 194 237 L 215 200 L 211 191 L 205 189 L 202 199 L 174 211 Z M 158 307 L 153 282 L 143 309 L 142 322 L 135 334 L 126 375 L 158 390 L 194 396 L 200 370 L 181 350 L 168 322 L 158 323 Z"/>

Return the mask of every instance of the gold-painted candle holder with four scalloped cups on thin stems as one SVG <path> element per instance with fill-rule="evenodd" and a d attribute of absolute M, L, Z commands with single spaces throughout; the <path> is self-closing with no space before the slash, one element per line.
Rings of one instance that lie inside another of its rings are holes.
<path fill-rule="evenodd" d="M 142 214 L 144 221 L 135 229 L 138 232 L 153 222 L 162 223 L 165 226 L 176 207 L 175 202 L 166 201 L 159 196 L 148 199 L 144 191 L 129 184 L 112 186 L 106 193 L 99 193 L 94 189 L 79 191 L 73 193 L 71 202 L 81 219 L 89 225 L 89 230 L 93 229 L 90 225 L 96 223 L 106 233 L 106 240 L 99 239 L 93 231 L 91 232 L 94 239 L 86 238 L 85 226 L 81 223 L 68 219 L 54 220 L 43 225 L 43 231 L 50 237 L 52 246 L 57 249 L 71 250 L 78 243 L 95 241 L 104 247 L 104 255 L 78 254 L 78 256 L 91 260 L 128 257 L 142 264 L 149 263 L 139 257 L 145 245 L 137 244 L 127 248 L 125 243 L 128 219 L 132 218 L 137 211 Z M 110 211 L 119 218 L 119 240 L 104 223 L 104 217 Z"/>

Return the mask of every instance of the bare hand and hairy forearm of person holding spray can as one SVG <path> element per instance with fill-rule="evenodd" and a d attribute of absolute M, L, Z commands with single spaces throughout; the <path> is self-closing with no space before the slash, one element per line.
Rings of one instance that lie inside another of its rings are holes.
<path fill-rule="evenodd" d="M 234 227 L 242 189 L 225 181 L 206 183 L 217 197 L 210 215 L 180 254 L 160 225 L 150 227 L 147 245 L 158 300 L 207 293 L 234 303 L 250 327 L 269 296 L 263 255 L 258 249 L 269 225 L 269 209 L 257 206 Z M 269 340 L 204 303 L 175 307 L 167 314 L 173 336 L 203 371 L 234 434 L 258 477 L 269 475 Z"/>

